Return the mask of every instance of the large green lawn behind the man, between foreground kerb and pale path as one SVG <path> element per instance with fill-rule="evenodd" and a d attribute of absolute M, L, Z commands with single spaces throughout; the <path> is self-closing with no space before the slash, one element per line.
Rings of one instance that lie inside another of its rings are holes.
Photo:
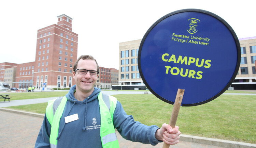
<path fill-rule="evenodd" d="M 154 95 L 114 95 L 127 114 L 145 125 L 169 123 L 173 105 Z M 47 103 L 12 106 L 11 109 L 45 113 Z M 176 125 L 182 134 L 256 144 L 256 96 L 221 95 L 199 106 L 183 107 Z"/>

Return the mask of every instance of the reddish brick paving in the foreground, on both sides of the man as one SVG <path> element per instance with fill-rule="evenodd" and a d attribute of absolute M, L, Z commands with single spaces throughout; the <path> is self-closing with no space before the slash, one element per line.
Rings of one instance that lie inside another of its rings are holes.
<path fill-rule="evenodd" d="M 35 145 L 43 118 L 23 114 L 0 111 L 0 148 L 32 148 Z M 117 133 L 120 148 L 160 148 L 163 143 L 156 146 L 127 141 Z M 180 141 L 171 148 L 222 148 L 217 146 Z"/>

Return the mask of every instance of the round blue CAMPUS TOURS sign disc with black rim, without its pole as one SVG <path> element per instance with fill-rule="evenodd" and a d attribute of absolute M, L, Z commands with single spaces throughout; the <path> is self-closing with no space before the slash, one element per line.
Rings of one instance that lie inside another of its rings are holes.
<path fill-rule="evenodd" d="M 231 85 L 241 60 L 239 40 L 221 17 L 185 9 L 157 20 L 138 53 L 141 78 L 159 99 L 173 104 L 185 89 L 182 106 L 207 103 Z"/>

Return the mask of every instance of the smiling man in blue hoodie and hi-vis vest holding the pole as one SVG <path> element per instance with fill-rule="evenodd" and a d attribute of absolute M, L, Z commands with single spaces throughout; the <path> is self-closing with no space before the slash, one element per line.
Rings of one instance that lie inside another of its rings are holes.
<path fill-rule="evenodd" d="M 127 115 L 116 98 L 95 86 L 99 66 L 82 55 L 73 67 L 76 85 L 63 98 L 49 101 L 35 147 L 119 147 L 115 128 L 127 140 L 156 145 L 179 142 L 179 127 L 146 126 Z M 56 107 L 57 106 L 57 107 Z"/>

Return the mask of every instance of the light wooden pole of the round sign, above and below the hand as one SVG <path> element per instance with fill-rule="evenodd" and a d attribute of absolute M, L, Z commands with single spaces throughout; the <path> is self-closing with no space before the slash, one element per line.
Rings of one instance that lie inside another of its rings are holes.
<path fill-rule="evenodd" d="M 175 128 L 175 125 L 176 125 L 176 121 L 177 121 L 179 111 L 180 111 L 180 108 L 181 108 L 181 102 L 182 102 L 182 98 L 183 98 L 183 95 L 184 95 L 184 91 L 185 91 L 184 89 L 179 88 L 178 92 L 177 92 L 177 95 L 176 95 L 176 99 L 175 99 L 173 109 L 172 109 L 171 119 L 170 119 L 170 122 L 169 122 L 169 125 L 172 128 Z M 169 144 L 163 143 L 163 148 L 169 148 L 169 147 L 170 147 Z"/>

